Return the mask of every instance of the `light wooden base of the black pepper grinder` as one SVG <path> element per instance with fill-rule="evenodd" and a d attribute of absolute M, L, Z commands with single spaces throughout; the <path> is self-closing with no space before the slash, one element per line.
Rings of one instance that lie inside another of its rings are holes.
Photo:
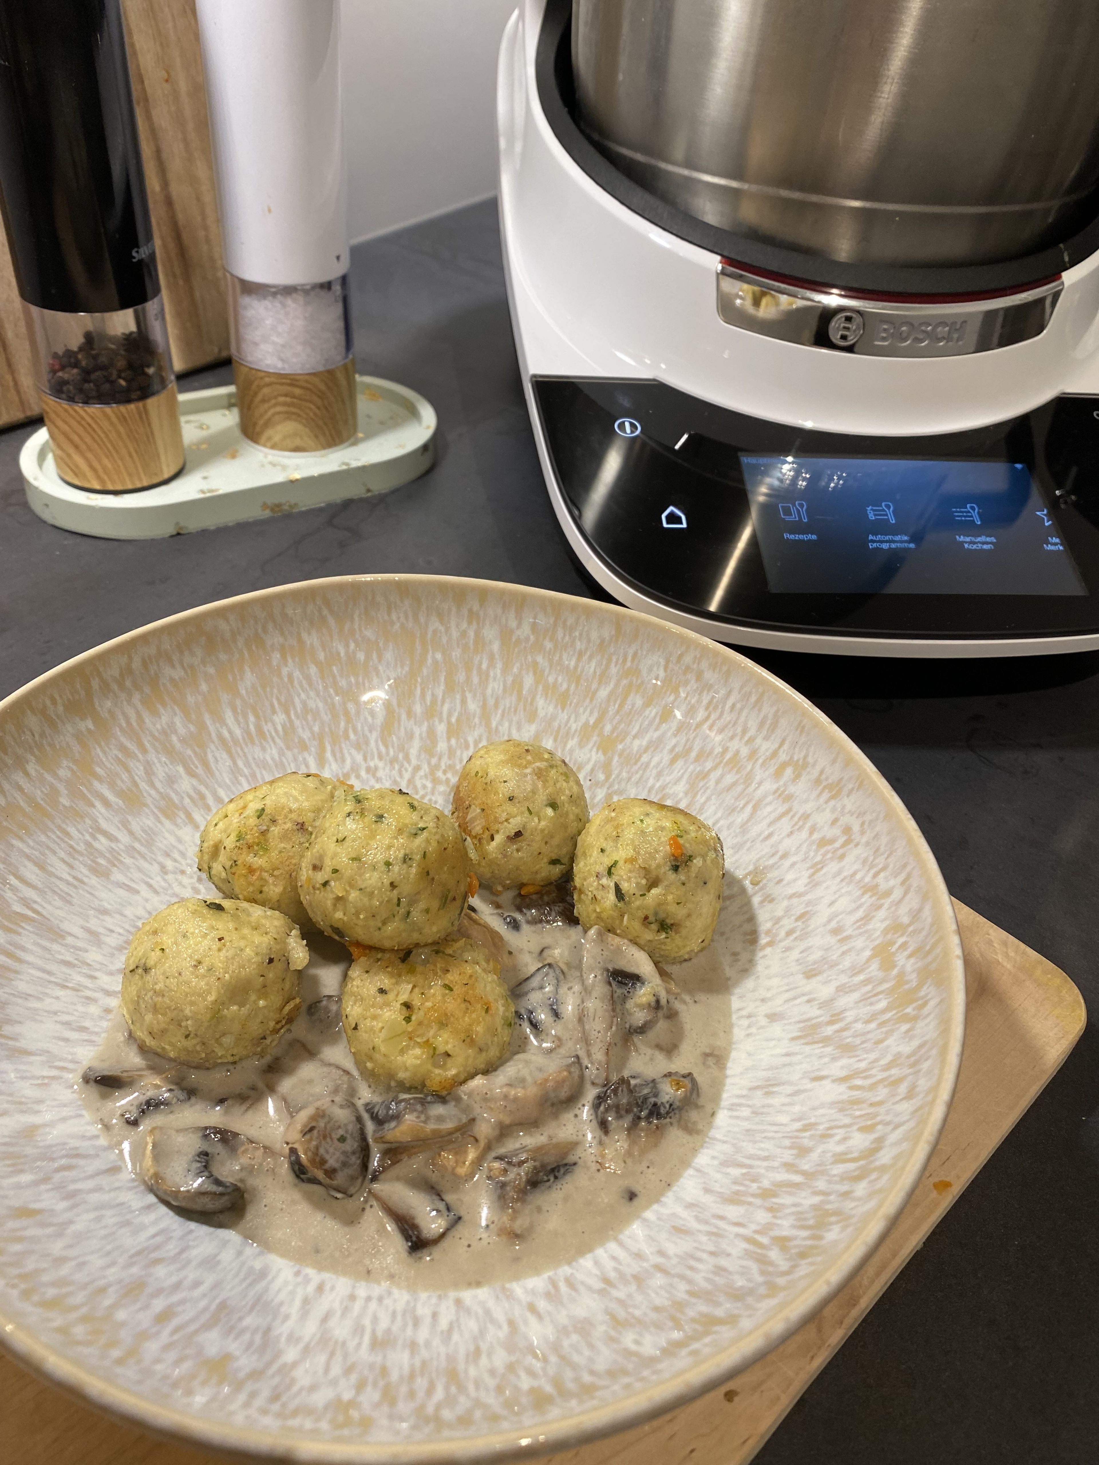
<path fill-rule="evenodd" d="M 44 391 L 38 398 L 66 483 L 126 494 L 164 483 L 183 467 L 174 381 L 155 397 L 108 407 L 59 401 Z"/>

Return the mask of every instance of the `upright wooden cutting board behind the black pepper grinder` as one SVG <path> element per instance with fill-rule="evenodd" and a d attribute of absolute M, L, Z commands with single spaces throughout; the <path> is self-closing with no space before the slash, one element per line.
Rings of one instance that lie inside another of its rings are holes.
<path fill-rule="evenodd" d="M 193 371 L 229 356 L 195 0 L 123 0 L 123 15 L 171 359 L 176 371 Z M 38 415 L 31 347 L 0 229 L 0 428 Z"/>

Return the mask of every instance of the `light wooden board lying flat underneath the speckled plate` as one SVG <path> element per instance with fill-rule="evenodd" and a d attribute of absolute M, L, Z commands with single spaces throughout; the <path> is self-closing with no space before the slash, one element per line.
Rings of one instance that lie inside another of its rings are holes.
<path fill-rule="evenodd" d="M 1084 1004 L 1052 963 L 954 902 L 966 948 L 961 1074 L 930 1163 L 859 1275 L 752 1368 L 651 1424 L 550 1456 L 547 1465 L 744 1465 L 873 1307 L 1080 1037 Z M 226 1455 L 163 1443 L 0 1358 L 4 1459 L 19 1465 L 204 1465 Z M 239 1461 L 240 1456 L 232 1456 Z"/>

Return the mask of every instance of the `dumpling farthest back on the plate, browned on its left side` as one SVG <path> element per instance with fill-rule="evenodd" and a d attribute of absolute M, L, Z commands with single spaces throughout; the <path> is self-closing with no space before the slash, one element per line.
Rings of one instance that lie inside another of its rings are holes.
<path fill-rule="evenodd" d="M 486 743 L 459 774 L 451 815 L 473 845 L 473 873 L 495 891 L 567 875 L 588 823 L 580 779 L 538 743 Z"/>

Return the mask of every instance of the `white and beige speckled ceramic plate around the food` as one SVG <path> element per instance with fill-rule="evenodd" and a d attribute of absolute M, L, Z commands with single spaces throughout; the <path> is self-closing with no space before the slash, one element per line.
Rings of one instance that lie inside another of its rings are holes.
<path fill-rule="evenodd" d="M 448 807 L 528 737 L 718 829 L 744 921 L 724 1097 L 614 1242 L 457 1294 L 322 1275 L 186 1225 L 119 1166 L 73 1071 L 129 936 L 202 892 L 198 831 L 290 768 Z M 315 580 L 88 652 L 0 706 L 0 1324 L 97 1403 L 210 1446 L 473 1462 L 564 1449 L 761 1357 L 903 1207 L 961 1055 L 935 861 L 856 747 L 711 642 L 629 611 L 429 577 Z"/>

